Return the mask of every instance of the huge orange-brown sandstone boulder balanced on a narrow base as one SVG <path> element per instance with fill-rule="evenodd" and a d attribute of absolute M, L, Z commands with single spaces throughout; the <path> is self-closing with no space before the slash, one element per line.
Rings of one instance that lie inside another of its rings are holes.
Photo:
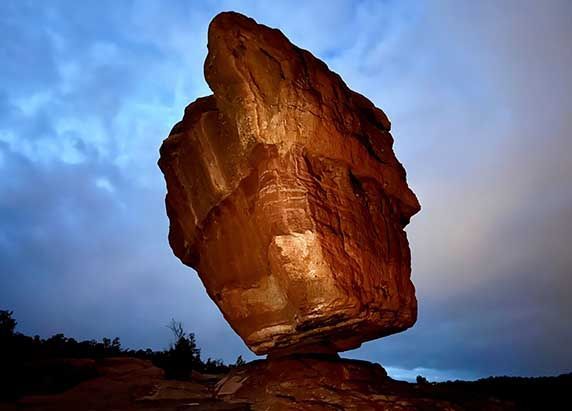
<path fill-rule="evenodd" d="M 169 240 L 257 354 L 336 352 L 416 320 L 419 211 L 385 114 L 278 30 L 222 13 L 214 95 L 161 147 Z"/>

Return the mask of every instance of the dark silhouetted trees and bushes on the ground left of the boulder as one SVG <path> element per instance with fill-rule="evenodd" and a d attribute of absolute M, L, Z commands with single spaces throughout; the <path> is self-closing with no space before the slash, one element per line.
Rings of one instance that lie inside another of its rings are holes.
<path fill-rule="evenodd" d="M 17 398 L 24 393 L 57 392 L 83 380 L 93 378 L 93 367 L 72 367 L 65 361 L 53 359 L 84 358 L 101 361 L 106 357 L 135 357 L 150 360 L 162 368 L 165 378 L 190 379 L 193 371 L 221 374 L 236 365 L 243 365 L 241 356 L 235 364 L 222 360 L 201 359 L 195 334 L 185 331 L 180 321 L 171 320 L 167 327 L 174 341 L 162 351 L 126 349 L 119 337 L 77 341 L 64 334 L 49 338 L 24 335 L 16 331 L 17 321 L 12 311 L 0 310 L 0 399 Z M 48 381 L 48 383 L 46 383 Z M 53 382 L 53 384 L 50 384 Z"/>

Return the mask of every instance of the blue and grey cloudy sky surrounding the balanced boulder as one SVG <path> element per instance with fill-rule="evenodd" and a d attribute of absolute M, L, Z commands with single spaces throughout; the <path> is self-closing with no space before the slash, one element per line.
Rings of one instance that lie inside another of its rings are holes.
<path fill-rule="evenodd" d="M 0 309 L 18 330 L 248 349 L 167 243 L 158 148 L 209 94 L 223 10 L 280 28 L 393 123 L 423 205 L 419 320 L 347 356 L 399 378 L 572 371 L 572 2 L 0 2 Z"/>

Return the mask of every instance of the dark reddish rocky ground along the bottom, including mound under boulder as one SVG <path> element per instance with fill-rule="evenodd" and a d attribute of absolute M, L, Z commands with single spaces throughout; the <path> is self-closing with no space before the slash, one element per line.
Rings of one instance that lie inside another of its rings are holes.
<path fill-rule="evenodd" d="M 564 393 L 572 388 L 570 376 L 509 379 L 512 388 L 493 380 L 411 384 L 391 379 L 379 364 L 335 356 L 259 360 L 227 375 L 195 373 L 191 381 L 166 380 L 135 358 L 72 361 L 97 376 L 61 393 L 0 403 L 0 411 L 554 410 L 568 409 Z"/>

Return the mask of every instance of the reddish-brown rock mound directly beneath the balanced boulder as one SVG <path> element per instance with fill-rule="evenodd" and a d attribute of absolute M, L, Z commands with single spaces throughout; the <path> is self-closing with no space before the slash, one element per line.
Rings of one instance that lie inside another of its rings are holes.
<path fill-rule="evenodd" d="M 219 399 L 254 411 L 462 409 L 389 378 L 379 364 L 335 357 L 254 361 L 231 371 L 215 391 Z"/>

